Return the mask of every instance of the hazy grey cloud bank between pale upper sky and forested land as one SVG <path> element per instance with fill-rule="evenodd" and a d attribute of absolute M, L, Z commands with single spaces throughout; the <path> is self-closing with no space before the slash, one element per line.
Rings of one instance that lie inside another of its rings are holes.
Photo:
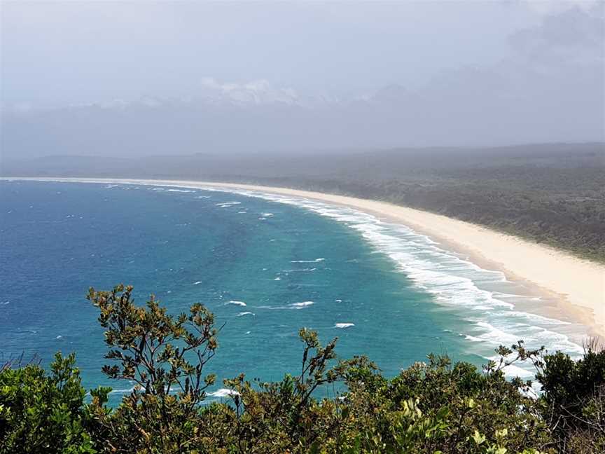
<path fill-rule="evenodd" d="M 479 39 L 480 37 L 478 37 Z M 100 156 L 605 141 L 604 5 L 544 13 L 485 65 L 348 96 L 204 77 L 185 97 L 5 106 L 5 156 Z"/>

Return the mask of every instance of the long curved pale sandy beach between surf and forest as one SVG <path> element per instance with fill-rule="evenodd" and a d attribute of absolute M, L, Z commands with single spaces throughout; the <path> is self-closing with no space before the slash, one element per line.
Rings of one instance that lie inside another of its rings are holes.
<path fill-rule="evenodd" d="M 352 207 L 380 219 L 409 226 L 445 245 L 445 249 L 466 256 L 482 268 L 500 270 L 508 280 L 521 282 L 529 294 L 539 296 L 542 300 L 539 307 L 531 305 L 524 307 L 524 310 L 579 322 L 587 327 L 586 335 L 605 338 L 605 266 L 440 214 L 345 195 L 214 181 L 50 177 L 2 179 L 239 189 L 293 195 Z"/>

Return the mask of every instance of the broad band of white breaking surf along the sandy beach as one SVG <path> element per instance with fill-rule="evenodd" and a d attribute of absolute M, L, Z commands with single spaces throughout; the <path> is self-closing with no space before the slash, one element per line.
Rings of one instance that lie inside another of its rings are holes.
<path fill-rule="evenodd" d="M 562 350 L 572 356 L 581 355 L 580 345 L 573 343 L 564 333 L 553 331 L 557 326 L 569 324 L 557 319 L 516 310 L 511 301 L 518 298 L 539 303 L 539 300 L 518 294 L 518 289 L 506 291 L 513 284 L 497 270 L 485 270 L 461 256 L 442 249 L 426 235 L 399 224 L 386 223 L 372 214 L 348 207 L 337 207 L 315 200 L 291 195 L 277 195 L 258 191 L 211 188 L 211 190 L 238 193 L 265 198 L 274 202 L 296 205 L 312 212 L 345 223 L 375 248 L 375 252 L 388 256 L 418 288 L 433 295 L 438 305 L 450 308 L 459 320 L 467 320 L 468 331 L 463 336 L 469 341 L 473 353 L 489 359 L 496 343 L 511 344 L 523 339 L 528 348 L 545 345 L 549 351 Z M 293 261 L 298 262 L 298 261 Z M 311 271 L 284 270 L 281 273 Z M 492 291 L 490 288 L 498 288 Z M 293 305 L 289 305 L 293 308 Z M 281 307 L 273 307 L 284 308 Z M 523 373 L 533 373 L 531 366 L 519 366 Z M 507 373 L 520 375 L 509 368 Z"/>

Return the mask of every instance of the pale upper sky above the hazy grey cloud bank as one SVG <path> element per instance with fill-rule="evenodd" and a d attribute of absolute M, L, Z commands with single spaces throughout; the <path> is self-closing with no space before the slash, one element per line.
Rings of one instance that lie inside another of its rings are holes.
<path fill-rule="evenodd" d="M 601 4 L 602 5 L 602 4 Z M 417 88 L 510 57 L 510 36 L 590 2 L 3 1 L 2 102 L 187 97 L 263 79 L 307 95 Z"/>

